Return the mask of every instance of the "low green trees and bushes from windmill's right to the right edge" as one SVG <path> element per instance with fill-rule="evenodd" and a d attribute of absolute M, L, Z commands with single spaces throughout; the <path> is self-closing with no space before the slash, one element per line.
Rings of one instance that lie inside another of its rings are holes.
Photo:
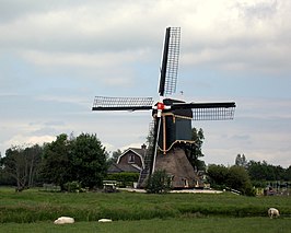
<path fill-rule="evenodd" d="M 291 165 L 288 168 L 268 164 L 266 161 L 247 161 L 237 154 L 233 166 L 210 164 L 207 168 L 208 182 L 214 188 L 233 188 L 245 195 L 255 195 L 254 187 L 291 187 Z"/>

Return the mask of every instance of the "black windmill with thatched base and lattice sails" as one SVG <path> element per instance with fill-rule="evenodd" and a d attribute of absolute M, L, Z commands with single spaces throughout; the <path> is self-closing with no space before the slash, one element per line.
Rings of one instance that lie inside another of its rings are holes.
<path fill-rule="evenodd" d="M 186 103 L 167 97 L 176 91 L 181 27 L 167 27 L 162 57 L 159 95 L 152 97 L 107 97 L 95 96 L 92 110 L 151 110 L 154 119 L 154 143 L 151 153 L 144 158 L 139 187 L 156 170 L 165 170 L 172 176 L 174 188 L 196 186 L 197 175 L 190 165 L 185 145 L 191 140 L 191 120 L 233 119 L 234 102 Z"/>

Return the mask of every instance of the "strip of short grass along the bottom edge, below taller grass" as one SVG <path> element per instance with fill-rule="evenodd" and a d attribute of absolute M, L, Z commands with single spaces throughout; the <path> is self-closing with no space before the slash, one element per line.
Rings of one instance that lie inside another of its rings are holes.
<path fill-rule="evenodd" d="M 4 223 L 1 224 L 1 231 L 5 233 L 83 233 L 83 232 L 118 232 L 118 233 L 179 233 L 179 232 L 203 232 L 203 233 L 289 233 L 291 229 L 291 219 L 268 218 L 203 218 L 203 219 L 153 219 L 139 221 L 115 221 L 112 223 L 98 222 L 77 222 L 67 225 L 54 225 L 48 222 L 39 223 Z"/>

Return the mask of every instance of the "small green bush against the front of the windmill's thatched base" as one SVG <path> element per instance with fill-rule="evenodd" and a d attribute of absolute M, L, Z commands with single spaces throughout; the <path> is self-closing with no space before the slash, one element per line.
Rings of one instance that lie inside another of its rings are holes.
<path fill-rule="evenodd" d="M 165 170 L 160 170 L 150 175 L 146 190 L 148 194 L 167 194 L 172 189 L 171 183 L 171 176 Z"/>

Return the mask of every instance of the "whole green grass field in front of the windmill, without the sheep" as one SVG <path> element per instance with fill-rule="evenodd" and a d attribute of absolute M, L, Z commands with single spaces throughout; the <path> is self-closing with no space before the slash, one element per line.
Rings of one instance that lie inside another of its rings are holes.
<path fill-rule="evenodd" d="M 270 220 L 267 209 L 280 210 Z M 60 215 L 72 225 L 54 225 Z M 291 197 L 15 193 L 0 187 L 1 232 L 291 232 Z M 98 223 L 110 218 L 113 223 Z"/>

